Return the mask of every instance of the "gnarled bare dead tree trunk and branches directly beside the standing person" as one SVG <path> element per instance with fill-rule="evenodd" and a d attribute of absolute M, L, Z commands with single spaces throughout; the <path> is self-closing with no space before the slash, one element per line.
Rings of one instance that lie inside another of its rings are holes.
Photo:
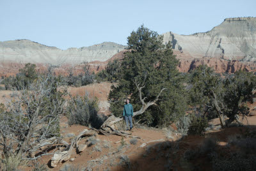
<path fill-rule="evenodd" d="M 139 92 L 139 96 L 140 96 L 140 102 L 142 104 L 140 110 L 134 112 L 134 116 L 136 115 L 141 115 L 145 112 L 145 110 L 147 110 L 148 107 L 150 107 L 151 105 L 156 105 L 156 102 L 159 100 L 159 96 L 161 96 L 161 93 L 166 90 L 166 88 L 161 89 L 161 91 L 159 92 L 159 94 L 157 94 L 156 98 L 153 101 L 148 101 L 145 102 L 145 99 L 147 99 L 147 97 L 142 97 L 142 92 L 141 90 L 145 87 L 145 80 L 147 78 L 147 75 L 145 75 L 144 80 L 142 83 L 138 83 L 135 79 L 134 84 L 136 85 L 136 88 Z M 123 137 L 134 137 L 131 136 L 131 134 L 124 132 L 124 131 L 118 131 L 115 124 L 122 121 L 124 118 L 123 117 L 115 117 L 114 115 L 111 115 L 100 127 L 99 132 L 104 134 L 104 135 L 111 135 L 111 134 L 115 134 L 115 135 L 120 135 Z M 134 138 L 138 138 L 138 137 L 134 137 Z"/>

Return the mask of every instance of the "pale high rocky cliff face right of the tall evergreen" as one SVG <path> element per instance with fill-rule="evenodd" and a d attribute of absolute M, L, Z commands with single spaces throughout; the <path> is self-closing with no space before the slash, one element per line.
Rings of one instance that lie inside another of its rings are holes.
<path fill-rule="evenodd" d="M 171 41 L 173 49 L 193 58 L 256 61 L 256 18 L 225 19 L 219 26 L 205 33 L 179 35 L 164 33 L 164 43 Z"/>

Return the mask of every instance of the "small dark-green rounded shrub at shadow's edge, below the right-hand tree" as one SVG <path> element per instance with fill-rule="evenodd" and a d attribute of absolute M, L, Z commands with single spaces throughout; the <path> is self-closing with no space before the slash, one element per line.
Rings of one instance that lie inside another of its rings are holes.
<path fill-rule="evenodd" d="M 189 134 L 204 135 L 208 126 L 208 119 L 204 116 L 191 115 L 191 123 L 189 125 Z"/>

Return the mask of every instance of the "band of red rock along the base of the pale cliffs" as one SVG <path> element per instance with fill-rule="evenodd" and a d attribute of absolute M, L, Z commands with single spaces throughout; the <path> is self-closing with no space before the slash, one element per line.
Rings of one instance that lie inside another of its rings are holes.
<path fill-rule="evenodd" d="M 125 50 L 118 52 L 113 57 L 108 59 L 107 61 L 93 61 L 88 63 L 90 65 L 90 71 L 94 71 L 95 73 L 104 70 L 106 68 L 109 61 L 113 61 L 115 59 L 122 59 L 124 57 Z M 189 54 L 185 54 L 183 52 L 173 50 L 173 53 L 177 56 L 180 63 L 177 66 L 177 69 L 180 72 L 188 72 L 194 70 L 200 64 L 206 64 L 207 66 L 212 67 L 217 73 L 234 73 L 237 70 L 246 70 L 246 71 L 256 71 L 256 63 L 253 62 L 241 62 L 237 60 L 228 61 L 225 59 L 217 59 L 215 57 L 202 57 L 195 59 Z M 72 67 L 72 71 L 75 75 L 83 72 L 84 64 L 78 64 L 76 66 L 72 66 L 71 64 L 63 64 L 59 68 L 54 69 L 54 73 L 56 75 L 68 75 L 68 70 Z M 1 63 L 0 66 L 0 76 L 8 77 L 10 75 L 15 75 L 19 72 L 20 68 L 23 68 L 24 64 L 21 63 Z M 46 71 L 47 64 L 37 63 L 36 70 L 38 71 Z"/>

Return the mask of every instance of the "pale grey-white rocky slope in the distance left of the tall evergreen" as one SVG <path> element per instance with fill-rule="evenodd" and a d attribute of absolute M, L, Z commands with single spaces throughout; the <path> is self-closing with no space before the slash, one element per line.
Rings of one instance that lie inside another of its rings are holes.
<path fill-rule="evenodd" d="M 104 42 L 91 47 L 61 50 L 30 40 L 0 41 L 0 61 L 2 63 L 81 64 L 84 61 L 106 61 L 124 48 L 123 45 Z"/>

